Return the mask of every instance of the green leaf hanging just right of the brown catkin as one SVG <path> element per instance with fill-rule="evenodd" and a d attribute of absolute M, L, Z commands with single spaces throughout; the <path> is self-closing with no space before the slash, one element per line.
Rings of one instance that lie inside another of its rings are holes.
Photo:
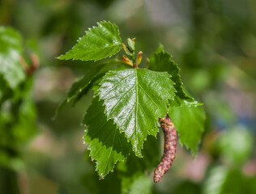
<path fill-rule="evenodd" d="M 205 112 L 202 107 L 170 107 L 169 116 L 173 120 L 181 145 L 186 145 L 196 154 L 204 131 Z"/>

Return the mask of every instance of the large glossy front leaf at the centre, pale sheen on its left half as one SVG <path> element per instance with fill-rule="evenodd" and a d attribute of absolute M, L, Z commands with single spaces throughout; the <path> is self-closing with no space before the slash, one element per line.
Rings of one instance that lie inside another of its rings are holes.
<path fill-rule="evenodd" d="M 145 69 L 109 71 L 100 82 L 99 95 L 105 113 L 131 141 L 137 156 L 156 121 L 166 115 L 168 101 L 174 97 L 169 74 Z"/>

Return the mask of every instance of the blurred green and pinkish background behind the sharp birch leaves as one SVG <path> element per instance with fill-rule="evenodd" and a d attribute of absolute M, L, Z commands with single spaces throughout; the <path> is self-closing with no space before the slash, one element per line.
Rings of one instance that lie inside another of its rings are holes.
<path fill-rule="evenodd" d="M 36 53 L 41 65 L 32 85 L 33 113 L 15 133 L 25 141 L 14 145 L 10 138 L 0 149 L 0 193 L 120 193 L 116 172 L 98 180 L 83 144 L 80 122 L 92 93 L 52 120 L 67 89 L 88 68 L 88 62 L 55 57 L 101 20 L 116 23 L 123 41 L 136 37 L 144 64 L 164 44 L 181 67 L 184 86 L 207 112 L 197 157 L 178 146 L 160 183 L 142 177 L 130 193 L 256 193 L 254 0 L 1 0 L 0 24 L 15 28 L 32 49 L 28 56 Z M 11 129 L 2 127 L 2 118 L 0 141 Z M 141 185 L 148 189 L 140 191 Z"/>

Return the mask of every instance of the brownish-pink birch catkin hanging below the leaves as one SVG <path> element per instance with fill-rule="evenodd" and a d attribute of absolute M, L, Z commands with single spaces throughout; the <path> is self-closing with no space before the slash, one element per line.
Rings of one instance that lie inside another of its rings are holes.
<path fill-rule="evenodd" d="M 154 173 L 155 183 L 162 179 L 163 175 L 169 170 L 175 158 L 177 146 L 177 133 L 169 115 L 159 120 L 161 128 L 164 130 L 164 156 Z"/>

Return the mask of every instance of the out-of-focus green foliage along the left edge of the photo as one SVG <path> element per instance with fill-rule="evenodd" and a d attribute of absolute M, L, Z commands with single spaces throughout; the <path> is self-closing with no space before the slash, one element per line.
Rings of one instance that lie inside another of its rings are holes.
<path fill-rule="evenodd" d="M 19 62 L 22 39 L 11 27 L 0 27 L 0 165 L 19 169 L 20 148 L 36 132 L 33 78 Z"/>

